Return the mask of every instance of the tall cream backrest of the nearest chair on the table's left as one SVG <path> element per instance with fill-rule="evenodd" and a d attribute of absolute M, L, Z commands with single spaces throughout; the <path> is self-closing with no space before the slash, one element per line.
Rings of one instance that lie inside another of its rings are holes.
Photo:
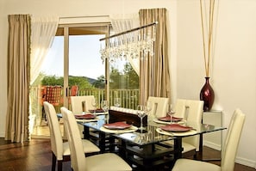
<path fill-rule="evenodd" d="M 66 107 L 60 107 L 60 111 L 63 115 L 66 135 L 71 150 L 72 169 L 74 171 L 85 170 L 86 162 L 77 121 L 72 112 Z"/>

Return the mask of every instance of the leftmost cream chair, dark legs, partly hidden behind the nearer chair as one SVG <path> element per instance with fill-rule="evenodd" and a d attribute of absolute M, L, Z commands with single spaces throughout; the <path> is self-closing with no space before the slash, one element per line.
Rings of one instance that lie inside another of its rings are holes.
<path fill-rule="evenodd" d="M 51 149 L 53 152 L 52 170 L 55 170 L 56 160 L 58 162 L 58 170 L 62 170 L 62 162 L 70 161 L 69 144 L 62 139 L 55 108 L 47 101 L 44 101 L 43 105 L 45 107 L 50 129 Z M 82 151 L 84 153 L 98 153 L 100 151 L 97 145 L 92 144 L 86 139 L 83 139 L 83 146 L 84 149 Z"/>

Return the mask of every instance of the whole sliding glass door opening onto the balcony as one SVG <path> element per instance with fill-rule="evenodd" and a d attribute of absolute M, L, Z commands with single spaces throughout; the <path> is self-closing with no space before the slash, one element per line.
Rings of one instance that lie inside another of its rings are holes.
<path fill-rule="evenodd" d="M 100 101 L 108 100 L 110 106 L 114 105 L 114 98 L 119 97 L 122 107 L 137 106 L 139 76 L 128 58 L 116 61 L 101 58 L 100 49 L 108 42 L 100 39 L 109 36 L 109 30 L 109 23 L 59 25 L 41 74 L 32 86 L 35 89 L 32 110 L 36 117 L 31 129 L 47 129 L 42 107 L 43 101 L 47 101 L 47 87 L 61 88 L 59 102 L 54 103 L 57 113 L 63 106 L 71 109 L 70 96 L 74 95 L 94 95 L 98 105 Z M 44 134 L 39 131 L 33 131 L 33 134 Z M 49 132 L 45 134 L 49 135 Z"/>

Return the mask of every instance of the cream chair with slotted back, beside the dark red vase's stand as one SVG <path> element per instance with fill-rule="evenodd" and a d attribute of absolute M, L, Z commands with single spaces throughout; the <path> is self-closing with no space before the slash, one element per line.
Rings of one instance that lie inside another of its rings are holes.
<path fill-rule="evenodd" d="M 193 126 L 195 129 L 200 129 L 198 126 L 202 124 L 203 101 L 178 99 L 175 104 L 174 116 L 183 118 L 187 124 Z M 173 141 L 167 141 L 165 144 L 173 144 Z M 194 158 L 197 158 L 199 145 L 199 135 L 184 137 L 182 139 L 183 156 L 194 156 Z"/>

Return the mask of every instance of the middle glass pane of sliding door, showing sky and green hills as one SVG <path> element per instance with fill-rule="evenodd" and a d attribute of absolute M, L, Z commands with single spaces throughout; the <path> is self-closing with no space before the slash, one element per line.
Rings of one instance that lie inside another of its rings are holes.
<path fill-rule="evenodd" d="M 98 104 L 104 96 L 105 67 L 100 58 L 103 34 L 69 37 L 69 87 L 77 86 L 78 95 L 95 95 Z"/>

